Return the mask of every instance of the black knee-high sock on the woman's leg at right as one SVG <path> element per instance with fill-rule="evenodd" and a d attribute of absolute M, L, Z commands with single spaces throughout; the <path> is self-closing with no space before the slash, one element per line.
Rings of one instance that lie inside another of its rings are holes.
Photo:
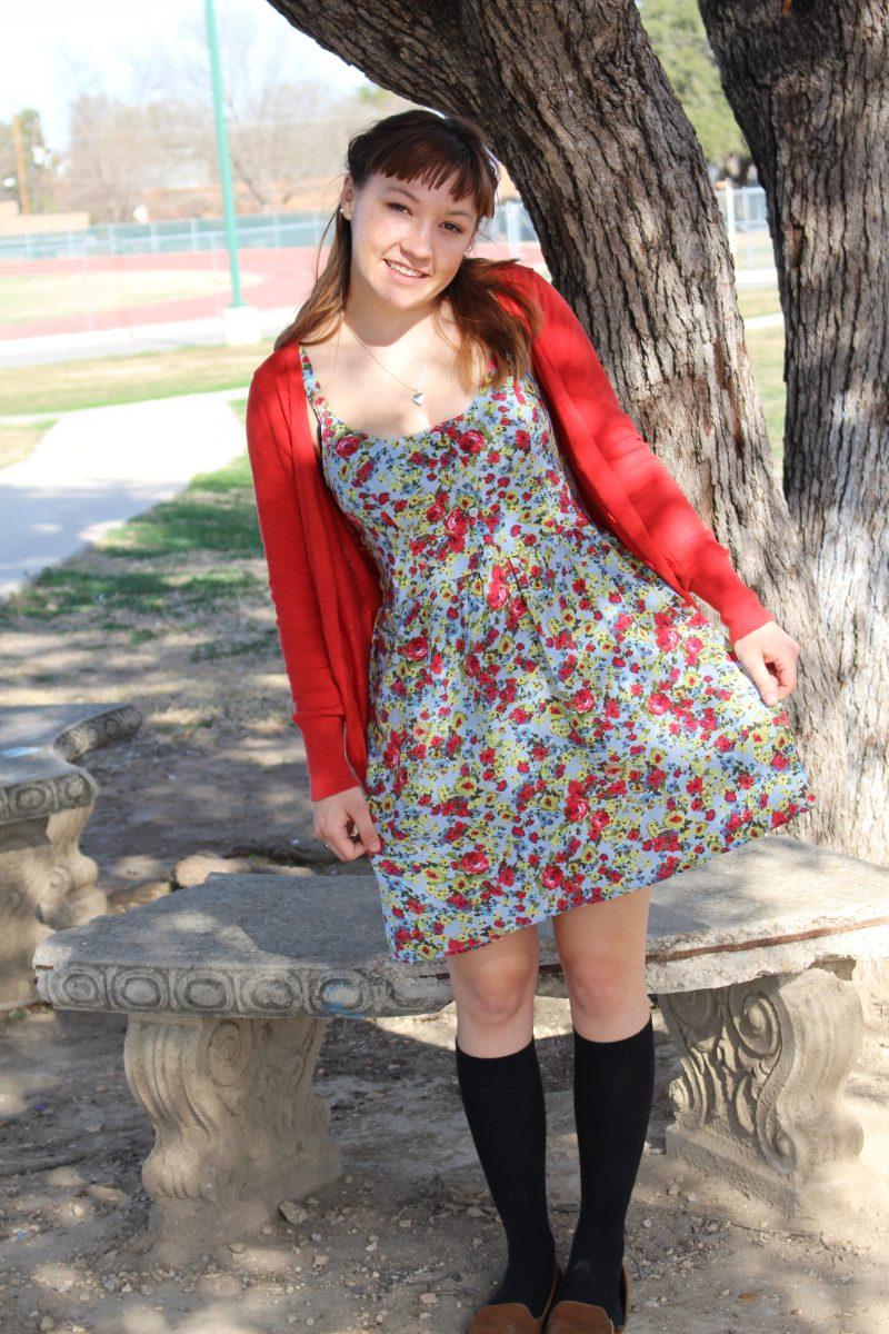
<path fill-rule="evenodd" d="M 604 1306 L 621 1326 L 624 1222 L 654 1095 L 654 1027 L 649 1014 L 638 1033 L 614 1042 L 573 1031 L 581 1202 L 557 1301 Z"/>

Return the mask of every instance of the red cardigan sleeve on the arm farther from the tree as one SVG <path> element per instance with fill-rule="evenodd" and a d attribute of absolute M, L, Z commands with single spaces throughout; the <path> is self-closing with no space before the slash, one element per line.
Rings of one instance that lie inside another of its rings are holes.
<path fill-rule="evenodd" d="M 303 734 L 313 802 L 357 784 L 345 758 L 340 698 L 308 559 L 291 463 L 288 415 L 276 384 L 255 372 L 247 399 L 247 450 L 279 639 Z"/>

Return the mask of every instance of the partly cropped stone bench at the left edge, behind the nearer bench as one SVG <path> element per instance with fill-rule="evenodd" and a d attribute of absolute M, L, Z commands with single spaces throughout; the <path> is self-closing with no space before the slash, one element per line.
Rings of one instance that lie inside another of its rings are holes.
<path fill-rule="evenodd" d="M 79 846 L 97 787 L 76 762 L 141 720 L 132 704 L 0 708 L 0 1010 L 37 999 L 31 959 L 44 935 L 108 906 Z"/>

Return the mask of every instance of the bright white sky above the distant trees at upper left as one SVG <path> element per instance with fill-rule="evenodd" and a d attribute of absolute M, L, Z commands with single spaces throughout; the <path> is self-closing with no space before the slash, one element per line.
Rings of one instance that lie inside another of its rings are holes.
<path fill-rule="evenodd" d="M 223 51 L 225 32 L 236 25 L 249 35 L 257 75 L 277 56 L 284 76 L 324 79 L 343 91 L 365 83 L 355 67 L 292 28 L 267 0 L 216 0 Z M 159 60 L 176 59 L 189 33 L 193 40 L 196 31 L 204 32 L 204 0 L 33 0 L 16 5 L 15 13 L 12 0 L 0 0 L 0 120 L 36 107 L 48 145 L 60 149 L 68 143 L 67 107 L 75 93 L 88 87 L 125 97 L 132 88 L 131 57 L 151 51 Z"/>

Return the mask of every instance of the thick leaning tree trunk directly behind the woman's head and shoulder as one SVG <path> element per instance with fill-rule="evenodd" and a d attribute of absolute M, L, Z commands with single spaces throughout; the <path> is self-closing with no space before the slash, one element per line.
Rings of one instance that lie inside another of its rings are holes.
<path fill-rule="evenodd" d="M 624 407 L 802 646 L 788 712 L 818 802 L 789 832 L 842 847 L 840 643 L 772 468 L 706 165 L 632 0 L 275 8 L 383 87 L 485 127 Z"/>

